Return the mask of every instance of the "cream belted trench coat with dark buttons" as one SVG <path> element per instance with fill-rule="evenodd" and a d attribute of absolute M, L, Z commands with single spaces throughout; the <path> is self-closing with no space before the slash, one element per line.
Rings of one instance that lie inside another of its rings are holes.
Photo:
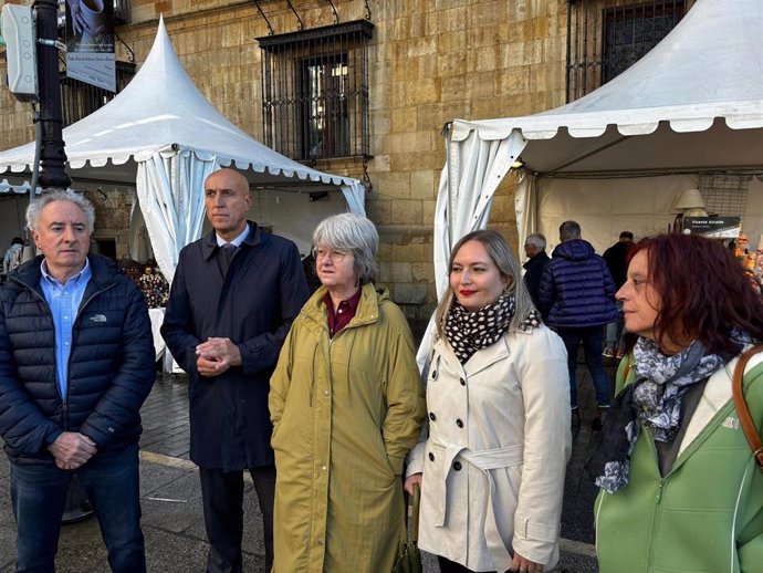
<path fill-rule="evenodd" d="M 422 472 L 419 546 L 472 571 L 505 571 L 510 551 L 558 561 L 569 458 L 567 353 L 546 326 L 510 331 L 466 365 L 438 340 L 427 374 L 429 437 L 409 455 Z"/>

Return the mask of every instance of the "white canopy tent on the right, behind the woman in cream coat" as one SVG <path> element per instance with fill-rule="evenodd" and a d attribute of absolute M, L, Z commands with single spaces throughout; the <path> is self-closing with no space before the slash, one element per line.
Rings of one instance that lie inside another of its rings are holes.
<path fill-rule="evenodd" d="M 589 240 L 606 227 L 592 240 L 598 248 L 626 228 L 615 225 L 639 218 L 645 231 L 666 230 L 673 197 L 699 174 L 763 173 L 761 38 L 760 0 L 698 0 L 646 56 L 581 100 L 524 117 L 454 121 L 435 213 L 438 295 L 451 246 L 487 226 L 520 157 L 520 241 L 536 230 L 555 238 L 558 222 L 576 218 Z M 755 179 L 753 191 L 763 202 Z"/>

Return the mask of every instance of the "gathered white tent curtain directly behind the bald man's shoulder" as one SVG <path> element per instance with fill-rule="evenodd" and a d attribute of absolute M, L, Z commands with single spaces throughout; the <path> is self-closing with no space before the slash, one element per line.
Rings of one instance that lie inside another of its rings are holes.
<path fill-rule="evenodd" d="M 201 237 L 203 181 L 219 169 L 217 158 L 189 150 L 157 152 L 138 162 L 136 190 L 154 257 L 173 282 L 180 249 Z"/>

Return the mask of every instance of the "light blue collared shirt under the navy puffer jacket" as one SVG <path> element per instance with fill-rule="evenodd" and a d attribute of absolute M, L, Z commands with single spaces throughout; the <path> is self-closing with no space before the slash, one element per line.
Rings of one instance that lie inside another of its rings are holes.
<path fill-rule="evenodd" d="M 93 277 L 90 261 L 85 259 L 85 265 L 74 277 L 61 284 L 50 275 L 48 265 L 43 259 L 40 265 L 42 277 L 40 286 L 45 295 L 45 300 L 53 314 L 53 326 L 55 327 L 55 372 L 59 379 L 61 397 L 66 399 L 66 388 L 69 385 L 69 355 L 72 351 L 72 327 L 74 320 L 85 294 L 85 288 Z"/>

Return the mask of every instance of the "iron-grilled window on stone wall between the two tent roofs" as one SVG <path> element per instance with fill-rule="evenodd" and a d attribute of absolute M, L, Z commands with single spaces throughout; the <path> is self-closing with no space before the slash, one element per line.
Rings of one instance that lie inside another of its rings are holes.
<path fill-rule="evenodd" d="M 367 157 L 366 20 L 259 38 L 265 144 L 299 160 Z"/>

